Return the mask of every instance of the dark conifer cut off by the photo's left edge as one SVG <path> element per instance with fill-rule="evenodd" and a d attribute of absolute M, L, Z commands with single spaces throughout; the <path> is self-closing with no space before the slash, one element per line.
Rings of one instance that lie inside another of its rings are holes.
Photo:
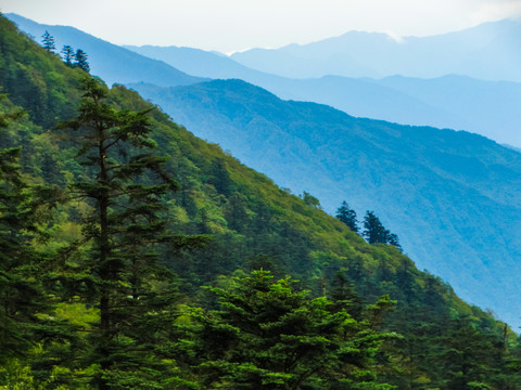
<path fill-rule="evenodd" d="M 22 115 L 0 114 L 0 128 Z M 45 289 L 46 256 L 33 247 L 40 222 L 36 211 L 40 199 L 24 181 L 21 151 L 0 150 L 0 367 L 20 361 L 38 372 L 38 365 L 60 363 L 62 356 L 41 353 L 38 360 L 31 360 L 31 348 L 63 344 L 74 336 L 66 324 L 52 316 L 54 307 Z M 0 370 L 0 387 L 9 379 L 2 378 L 5 374 L 12 373 L 9 368 Z"/>

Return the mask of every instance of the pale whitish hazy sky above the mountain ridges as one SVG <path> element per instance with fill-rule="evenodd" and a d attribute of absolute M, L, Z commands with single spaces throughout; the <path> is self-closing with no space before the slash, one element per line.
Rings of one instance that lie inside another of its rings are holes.
<path fill-rule="evenodd" d="M 396 37 L 454 31 L 521 17 L 521 0 L 0 0 L 0 11 L 74 26 L 116 44 L 229 53 L 355 29 Z"/>

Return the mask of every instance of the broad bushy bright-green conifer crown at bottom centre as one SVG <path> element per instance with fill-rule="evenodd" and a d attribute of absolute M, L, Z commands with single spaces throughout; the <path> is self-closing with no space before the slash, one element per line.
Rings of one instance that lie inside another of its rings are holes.
<path fill-rule="evenodd" d="M 295 291 L 289 277 L 275 282 L 254 271 L 211 291 L 220 310 L 192 309 L 188 335 L 203 388 L 392 388 L 378 384 L 373 367 L 381 343 L 394 336 L 332 312 L 331 301 Z M 385 311 L 382 302 L 368 310 Z"/>

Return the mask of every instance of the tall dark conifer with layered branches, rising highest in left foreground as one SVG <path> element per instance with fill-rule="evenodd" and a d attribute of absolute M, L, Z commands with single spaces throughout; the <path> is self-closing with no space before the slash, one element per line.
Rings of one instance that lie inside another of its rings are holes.
<path fill-rule="evenodd" d="M 165 326 L 161 318 L 170 326 L 167 309 L 176 300 L 173 275 L 158 264 L 155 247 L 187 240 L 167 235 L 162 217 L 163 197 L 177 183 L 162 170 L 166 158 L 152 153 L 150 109 L 113 108 L 107 88 L 96 78 L 86 79 L 82 90 L 78 117 L 60 127 L 75 131 L 71 138 L 79 142 L 85 166 L 71 197 L 93 210 L 84 221 L 84 242 L 91 249 L 82 266 L 98 289 L 90 303 L 99 308 L 100 321 L 87 364 L 101 367 L 100 389 L 156 388 L 160 373 L 169 368 L 156 358 L 154 349 L 162 346 L 155 337 Z"/>

